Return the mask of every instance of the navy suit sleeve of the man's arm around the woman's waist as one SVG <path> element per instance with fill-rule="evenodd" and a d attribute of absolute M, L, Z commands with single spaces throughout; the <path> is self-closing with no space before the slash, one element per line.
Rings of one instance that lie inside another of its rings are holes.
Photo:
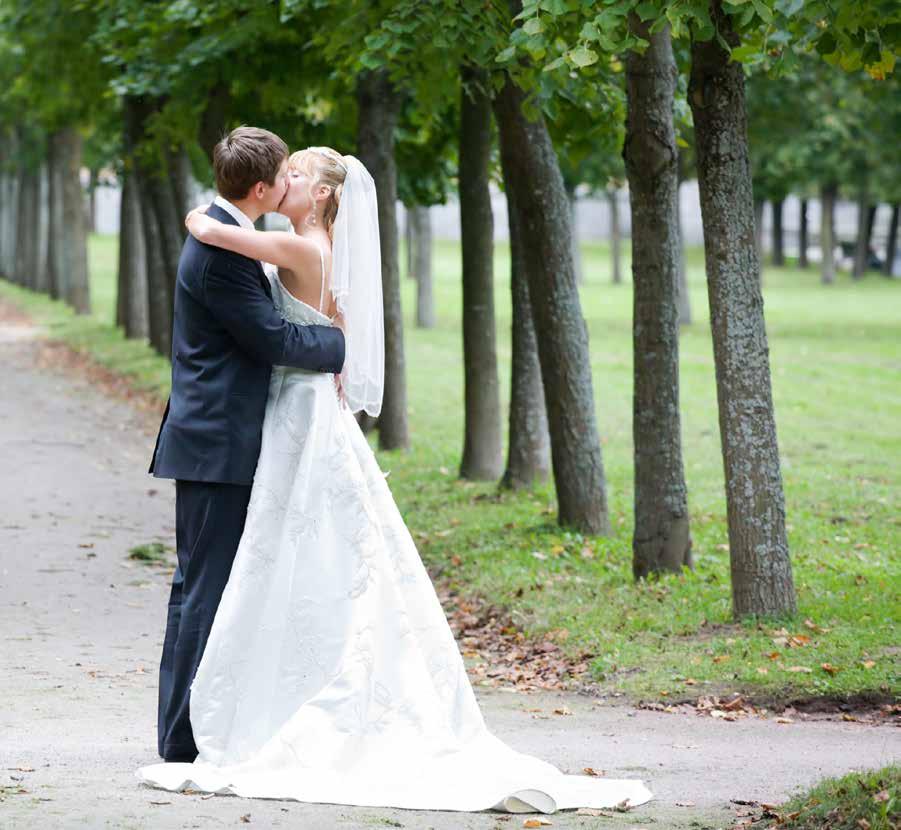
<path fill-rule="evenodd" d="M 336 374 L 344 366 L 344 333 L 283 319 L 246 258 L 224 252 L 211 257 L 203 292 L 210 312 L 261 363 Z"/>

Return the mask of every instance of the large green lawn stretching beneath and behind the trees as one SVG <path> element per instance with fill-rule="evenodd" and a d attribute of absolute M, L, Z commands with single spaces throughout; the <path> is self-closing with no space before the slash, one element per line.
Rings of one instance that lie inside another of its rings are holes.
<path fill-rule="evenodd" d="M 793 619 L 732 624 L 702 252 L 689 251 L 695 322 L 680 343 L 695 570 L 637 585 L 631 578 L 631 287 L 628 273 L 625 284 L 610 283 L 606 246 L 586 245 L 584 257 L 582 302 L 613 534 L 582 538 L 558 528 L 550 486 L 498 495 L 491 483 L 457 478 L 463 445 L 459 248 L 442 242 L 435 250 L 434 329 L 415 328 L 414 285 L 402 278 L 412 449 L 379 453 L 423 559 L 465 591 L 510 609 L 527 633 L 549 635 L 573 654 L 594 655 L 594 677 L 630 696 L 676 699 L 726 690 L 760 697 L 897 695 L 901 283 L 876 274 L 852 283 L 841 275 L 826 287 L 815 269 L 765 273 L 799 612 Z M 137 385 L 165 390 L 165 362 L 109 326 L 115 261 L 115 239 L 94 237 L 96 317 L 75 318 L 8 284 L 0 293 Z M 506 246 L 498 248 L 495 273 L 506 398 Z M 789 640 L 802 645 L 788 647 L 780 638 L 789 635 L 809 641 Z"/>

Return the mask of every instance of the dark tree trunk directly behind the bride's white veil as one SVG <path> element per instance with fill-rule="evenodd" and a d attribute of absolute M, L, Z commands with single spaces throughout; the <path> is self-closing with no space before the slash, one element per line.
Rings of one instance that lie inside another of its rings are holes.
<path fill-rule="evenodd" d="M 382 249 L 385 391 L 379 415 L 379 447 L 383 450 L 406 449 L 410 445 L 410 436 L 398 273 L 397 166 L 394 159 L 394 130 L 400 111 L 400 97 L 388 80 L 387 72 L 379 70 L 359 76 L 357 107 L 357 147 L 360 160 L 375 180 Z"/>

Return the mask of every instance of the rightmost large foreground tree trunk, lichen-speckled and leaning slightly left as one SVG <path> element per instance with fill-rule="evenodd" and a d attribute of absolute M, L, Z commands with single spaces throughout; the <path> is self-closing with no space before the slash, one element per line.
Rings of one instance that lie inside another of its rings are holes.
<path fill-rule="evenodd" d="M 722 0 L 714 26 L 739 38 Z M 693 41 L 689 101 L 697 143 L 736 617 L 795 611 L 769 349 L 754 246 L 744 69 L 718 39 Z"/>

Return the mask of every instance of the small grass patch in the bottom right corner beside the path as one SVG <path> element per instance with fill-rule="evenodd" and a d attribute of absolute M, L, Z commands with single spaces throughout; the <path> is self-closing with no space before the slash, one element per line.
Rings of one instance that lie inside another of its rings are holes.
<path fill-rule="evenodd" d="M 781 830 L 896 830 L 901 827 L 901 767 L 827 778 L 778 809 Z"/>

